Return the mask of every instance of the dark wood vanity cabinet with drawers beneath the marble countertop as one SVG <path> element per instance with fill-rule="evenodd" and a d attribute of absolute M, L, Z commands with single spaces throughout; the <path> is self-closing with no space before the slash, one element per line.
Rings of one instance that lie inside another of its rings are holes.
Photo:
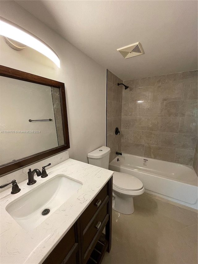
<path fill-rule="evenodd" d="M 101 263 L 111 249 L 112 183 L 111 177 L 43 264 Z"/>

